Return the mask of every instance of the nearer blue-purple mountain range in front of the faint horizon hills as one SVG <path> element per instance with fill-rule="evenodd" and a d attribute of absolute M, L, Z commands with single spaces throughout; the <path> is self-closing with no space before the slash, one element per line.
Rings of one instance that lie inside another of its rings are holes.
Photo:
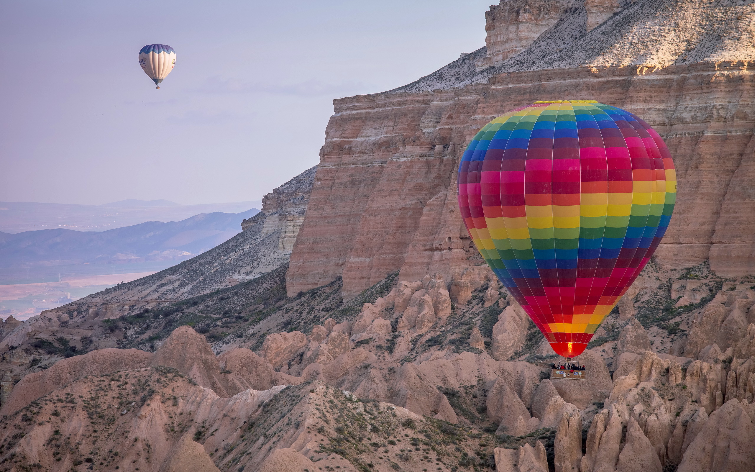
<path fill-rule="evenodd" d="M 107 231 L 0 232 L 0 268 L 183 261 L 226 242 L 241 231 L 243 219 L 258 212 L 257 208 L 242 213 L 216 211 Z"/>

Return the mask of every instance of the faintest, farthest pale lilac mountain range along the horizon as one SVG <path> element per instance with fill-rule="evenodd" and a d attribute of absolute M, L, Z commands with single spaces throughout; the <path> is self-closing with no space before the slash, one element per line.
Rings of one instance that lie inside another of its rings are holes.
<path fill-rule="evenodd" d="M 65 203 L 0 202 L 0 231 L 21 233 L 66 228 L 78 231 L 104 231 L 128 227 L 144 221 L 180 221 L 196 214 L 241 213 L 261 208 L 262 202 L 179 205 L 168 200 L 122 200 L 104 205 Z"/>

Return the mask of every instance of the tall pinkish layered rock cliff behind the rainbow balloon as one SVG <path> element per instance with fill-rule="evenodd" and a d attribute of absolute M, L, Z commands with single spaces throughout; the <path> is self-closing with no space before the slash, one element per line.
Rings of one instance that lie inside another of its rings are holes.
<path fill-rule="evenodd" d="M 565 5 L 501 2 L 488 12 L 488 48 L 403 88 L 334 100 L 289 295 L 343 276 L 350 298 L 396 270 L 451 282 L 479 264 L 456 205 L 458 159 L 486 122 L 545 99 L 619 106 L 664 137 L 679 193 L 659 264 L 755 271 L 753 5 Z M 520 28 L 544 30 L 528 45 Z"/>

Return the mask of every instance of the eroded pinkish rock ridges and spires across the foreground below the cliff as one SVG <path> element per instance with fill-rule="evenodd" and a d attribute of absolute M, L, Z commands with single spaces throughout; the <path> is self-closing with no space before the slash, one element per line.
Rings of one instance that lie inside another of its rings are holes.
<path fill-rule="evenodd" d="M 291 328 L 237 333 L 217 354 L 184 325 L 154 353 L 61 359 L 3 402 L 15 426 L 0 433 L 0 461 L 180 470 L 166 452 L 185 449 L 220 470 L 744 470 L 755 461 L 755 279 L 704 264 L 676 273 L 643 272 L 633 312 L 612 313 L 581 356 L 586 381 L 548 378 L 557 357 L 485 271 L 453 296 L 440 274 L 393 276 L 356 313 L 271 316 Z M 741 322 L 745 334 L 730 334 Z"/>

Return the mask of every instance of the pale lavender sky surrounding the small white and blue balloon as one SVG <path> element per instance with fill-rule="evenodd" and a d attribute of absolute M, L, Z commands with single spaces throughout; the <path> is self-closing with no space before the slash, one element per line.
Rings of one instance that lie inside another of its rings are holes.
<path fill-rule="evenodd" d="M 334 98 L 482 47 L 490 3 L 5 0 L 0 201 L 259 200 L 319 162 Z"/>

